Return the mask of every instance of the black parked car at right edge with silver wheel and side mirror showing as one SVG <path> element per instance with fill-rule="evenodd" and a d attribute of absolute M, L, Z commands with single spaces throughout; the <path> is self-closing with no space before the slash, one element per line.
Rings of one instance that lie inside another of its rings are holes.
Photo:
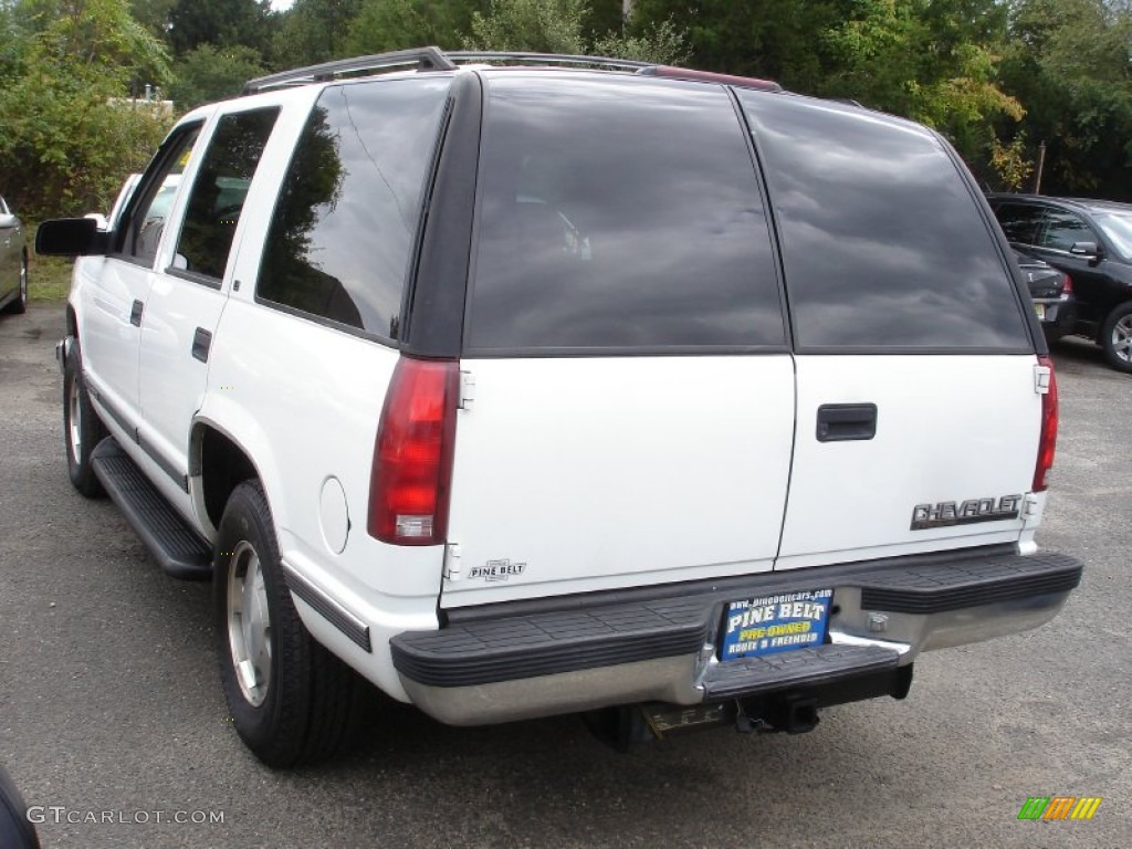
<path fill-rule="evenodd" d="M 1096 340 L 1132 372 L 1132 205 L 1038 195 L 990 195 L 1011 245 L 1070 275 L 1072 333 Z"/>

